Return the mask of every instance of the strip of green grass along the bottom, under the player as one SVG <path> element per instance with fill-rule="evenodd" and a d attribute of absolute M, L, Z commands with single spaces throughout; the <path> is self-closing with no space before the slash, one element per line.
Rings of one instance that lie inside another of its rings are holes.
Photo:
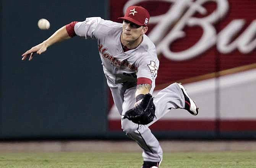
<path fill-rule="evenodd" d="M 0 168 L 140 168 L 141 153 L 0 153 Z M 256 168 L 256 152 L 164 153 L 160 168 Z"/>

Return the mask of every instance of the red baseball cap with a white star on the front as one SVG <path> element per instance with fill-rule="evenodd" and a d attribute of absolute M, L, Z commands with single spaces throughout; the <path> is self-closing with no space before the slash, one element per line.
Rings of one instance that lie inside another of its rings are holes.
<path fill-rule="evenodd" d="M 149 12 L 142 6 L 129 6 L 126 9 L 125 16 L 118 19 L 125 19 L 139 26 L 147 26 L 149 18 Z"/>

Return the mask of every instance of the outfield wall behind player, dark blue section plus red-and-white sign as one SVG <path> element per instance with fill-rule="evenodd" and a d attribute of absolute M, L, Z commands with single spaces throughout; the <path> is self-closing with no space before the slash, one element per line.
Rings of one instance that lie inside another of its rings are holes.
<path fill-rule="evenodd" d="M 95 40 L 74 37 L 32 61 L 21 61 L 21 55 L 72 21 L 93 16 L 118 21 L 129 4 L 149 9 L 147 35 L 157 48 L 169 45 L 169 50 L 158 50 L 160 68 L 153 94 L 172 82 L 183 82 L 199 106 L 198 116 L 171 110 L 151 126 L 156 137 L 256 138 L 256 3 L 209 0 L 201 4 L 206 13 L 191 11 L 197 8 L 190 5 L 198 0 L 188 6 L 185 1 L 132 3 L 0 0 L 0 140 L 128 139 Z M 50 21 L 49 30 L 37 27 L 41 18 Z M 185 36 L 177 37 L 175 31 Z"/>

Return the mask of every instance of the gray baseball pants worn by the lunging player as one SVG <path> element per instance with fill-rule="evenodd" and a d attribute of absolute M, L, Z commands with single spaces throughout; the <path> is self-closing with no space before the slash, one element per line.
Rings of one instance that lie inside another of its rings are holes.
<path fill-rule="evenodd" d="M 151 94 L 153 89 L 151 89 Z M 136 87 L 127 89 L 122 85 L 116 85 L 115 87 L 110 87 L 110 90 L 121 115 L 124 115 L 127 110 L 134 107 Z M 139 144 L 143 149 L 142 156 L 144 161 L 149 162 L 159 162 L 163 157 L 163 151 L 158 140 L 148 127 L 170 111 L 170 108 L 184 108 L 184 95 L 178 84 L 173 83 L 158 92 L 154 97 L 154 104 L 156 105 L 156 118 L 147 125 L 135 124 L 128 119 L 121 119 L 122 129 L 126 132 L 126 136 Z"/>

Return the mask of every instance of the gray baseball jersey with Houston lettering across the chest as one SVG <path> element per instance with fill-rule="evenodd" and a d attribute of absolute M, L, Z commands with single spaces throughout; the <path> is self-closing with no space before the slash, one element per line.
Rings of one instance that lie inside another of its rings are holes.
<path fill-rule="evenodd" d="M 137 78 L 147 78 L 155 87 L 159 67 L 155 45 L 144 35 L 143 42 L 135 49 L 123 51 L 120 36 L 122 24 L 100 17 L 87 18 L 75 24 L 75 33 L 86 39 L 96 39 L 100 59 L 109 87 L 130 83 L 136 86 Z"/>

